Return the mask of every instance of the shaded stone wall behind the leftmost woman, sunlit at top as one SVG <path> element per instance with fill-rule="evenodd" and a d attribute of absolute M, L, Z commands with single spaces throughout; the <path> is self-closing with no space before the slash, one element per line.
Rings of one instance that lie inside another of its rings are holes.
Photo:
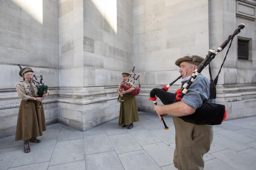
<path fill-rule="evenodd" d="M 30 6 L 31 8 L 28 8 Z M 15 133 L 22 80 L 18 63 L 42 74 L 51 95 L 45 100 L 46 123 L 56 123 L 59 87 L 58 0 L 0 1 L 0 138 Z M 57 87 L 57 88 L 55 88 Z"/>

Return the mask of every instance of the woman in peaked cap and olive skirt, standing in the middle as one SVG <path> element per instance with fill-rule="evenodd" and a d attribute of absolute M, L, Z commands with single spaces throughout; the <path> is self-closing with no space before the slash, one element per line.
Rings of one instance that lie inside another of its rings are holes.
<path fill-rule="evenodd" d="M 129 73 L 122 73 L 123 82 L 126 83 L 128 81 Z M 120 84 L 121 85 L 121 84 Z M 135 96 L 132 94 L 128 94 L 132 92 L 136 87 L 132 85 L 132 87 L 126 91 L 120 91 L 120 85 L 118 86 L 117 93 L 123 97 L 124 101 L 121 101 L 120 104 L 120 112 L 119 112 L 119 122 L 118 125 L 122 127 L 128 126 L 127 129 L 133 128 L 133 122 L 139 121 L 138 109 L 135 100 Z"/>

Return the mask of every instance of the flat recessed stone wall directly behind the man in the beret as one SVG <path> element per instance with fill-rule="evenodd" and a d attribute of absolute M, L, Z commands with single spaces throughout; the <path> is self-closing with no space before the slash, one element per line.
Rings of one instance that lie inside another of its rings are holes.
<path fill-rule="evenodd" d="M 208 0 L 135 0 L 132 15 L 133 63 L 142 84 L 138 108 L 154 112 L 149 92 L 180 76 L 175 61 L 187 54 L 205 56 L 209 50 Z M 209 76 L 207 69 L 203 74 Z M 180 80 L 170 91 L 179 87 Z"/>

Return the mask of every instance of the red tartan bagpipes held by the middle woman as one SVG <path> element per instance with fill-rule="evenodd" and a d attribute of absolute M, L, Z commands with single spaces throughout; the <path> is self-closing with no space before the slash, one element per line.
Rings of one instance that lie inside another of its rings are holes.
<path fill-rule="evenodd" d="M 132 72 L 127 80 L 127 82 L 125 83 L 124 81 L 120 84 L 120 88 L 119 90 L 129 90 L 132 85 L 134 85 L 134 83 L 136 82 L 136 80 L 140 77 L 140 75 L 138 75 L 136 77 L 136 74 L 134 72 L 134 69 L 135 67 L 133 66 L 133 69 L 132 69 Z M 132 74 L 133 74 L 133 77 L 132 77 Z M 136 78 L 135 78 L 136 77 Z M 139 80 L 140 81 L 140 80 Z M 139 83 L 139 87 L 136 87 L 132 92 L 128 92 L 128 94 L 132 94 L 134 96 L 138 95 L 140 93 L 140 83 Z M 121 101 L 124 101 L 123 100 L 123 97 L 121 98 Z"/>

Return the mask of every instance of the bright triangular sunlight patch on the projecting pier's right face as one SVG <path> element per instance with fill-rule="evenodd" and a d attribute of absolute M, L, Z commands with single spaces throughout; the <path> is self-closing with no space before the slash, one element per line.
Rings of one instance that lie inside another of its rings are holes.
<path fill-rule="evenodd" d="M 116 0 L 91 0 L 101 16 L 106 19 L 109 26 L 117 33 L 117 7 Z"/>

